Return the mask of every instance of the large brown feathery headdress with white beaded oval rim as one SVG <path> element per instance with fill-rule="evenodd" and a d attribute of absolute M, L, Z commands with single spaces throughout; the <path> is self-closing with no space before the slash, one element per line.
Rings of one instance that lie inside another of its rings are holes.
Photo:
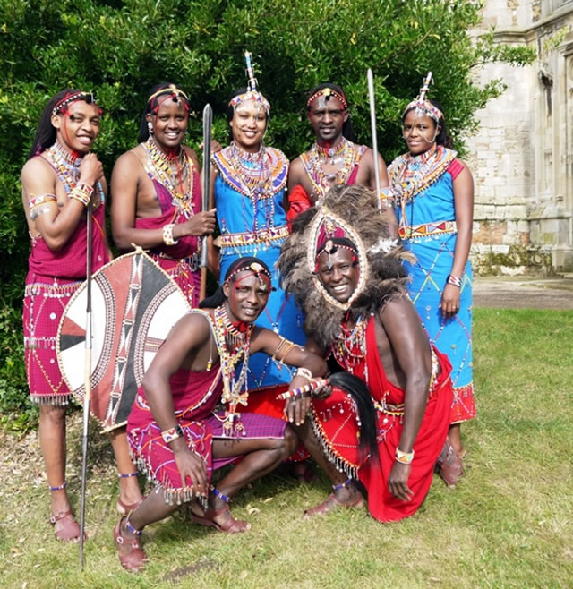
<path fill-rule="evenodd" d="M 330 189 L 321 206 L 295 218 L 278 258 L 281 285 L 304 311 L 306 333 L 325 349 L 345 318 L 356 320 L 377 312 L 390 298 L 405 292 L 402 260 L 413 260 L 413 256 L 393 238 L 391 226 L 378 211 L 375 193 L 357 184 Z M 355 292 L 346 303 L 326 291 L 316 267 L 317 254 L 325 249 L 334 252 L 342 242 L 351 243 L 360 269 Z"/>

